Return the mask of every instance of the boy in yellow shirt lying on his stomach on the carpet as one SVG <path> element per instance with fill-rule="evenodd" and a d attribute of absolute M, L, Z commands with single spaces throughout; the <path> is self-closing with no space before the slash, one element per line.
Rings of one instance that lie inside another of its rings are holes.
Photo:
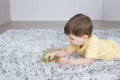
<path fill-rule="evenodd" d="M 64 33 L 68 36 L 71 46 L 66 50 L 47 53 L 45 58 L 59 56 L 60 64 L 82 65 L 90 64 L 95 59 L 111 60 L 120 57 L 120 48 L 113 40 L 101 40 L 92 34 L 91 19 L 84 14 L 73 16 L 65 25 Z M 67 59 L 77 51 L 84 58 Z"/>

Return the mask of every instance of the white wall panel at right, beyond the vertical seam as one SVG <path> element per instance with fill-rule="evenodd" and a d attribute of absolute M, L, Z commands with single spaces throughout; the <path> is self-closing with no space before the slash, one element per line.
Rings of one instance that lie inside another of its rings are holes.
<path fill-rule="evenodd" d="M 120 21 L 120 0 L 104 0 L 103 20 Z"/>

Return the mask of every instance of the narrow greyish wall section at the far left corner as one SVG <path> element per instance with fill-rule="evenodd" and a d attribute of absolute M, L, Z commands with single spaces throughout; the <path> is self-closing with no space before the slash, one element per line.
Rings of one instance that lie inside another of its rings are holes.
<path fill-rule="evenodd" d="M 0 0 L 0 25 L 10 21 L 10 0 Z"/>

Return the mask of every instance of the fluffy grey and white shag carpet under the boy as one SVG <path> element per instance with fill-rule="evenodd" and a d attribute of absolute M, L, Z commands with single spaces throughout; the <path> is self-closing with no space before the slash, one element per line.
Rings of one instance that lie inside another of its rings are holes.
<path fill-rule="evenodd" d="M 94 33 L 100 38 L 117 37 L 114 39 L 120 44 L 120 29 Z M 120 59 L 61 68 L 57 63 L 40 61 L 43 51 L 60 46 L 69 46 L 63 29 L 8 30 L 0 34 L 0 80 L 120 80 Z"/>

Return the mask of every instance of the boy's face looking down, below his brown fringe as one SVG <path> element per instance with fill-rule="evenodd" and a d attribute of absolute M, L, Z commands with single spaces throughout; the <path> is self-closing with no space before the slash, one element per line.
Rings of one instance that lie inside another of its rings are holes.
<path fill-rule="evenodd" d="M 68 38 L 69 38 L 69 42 L 74 46 L 84 45 L 86 43 L 86 41 L 88 40 L 87 35 L 83 35 L 81 37 L 78 37 L 78 36 L 70 34 L 70 35 L 68 35 Z"/>

